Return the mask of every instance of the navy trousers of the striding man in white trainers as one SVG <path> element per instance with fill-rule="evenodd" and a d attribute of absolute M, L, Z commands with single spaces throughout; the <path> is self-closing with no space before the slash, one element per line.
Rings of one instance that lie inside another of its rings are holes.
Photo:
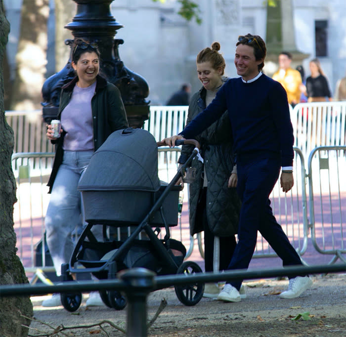
<path fill-rule="evenodd" d="M 238 244 L 228 269 L 247 269 L 257 243 L 257 232 L 282 259 L 284 266 L 302 264 L 270 207 L 269 195 L 280 174 L 280 156 L 274 153 L 238 155 L 237 191 L 242 201 Z M 241 281 L 230 282 L 240 289 Z"/>

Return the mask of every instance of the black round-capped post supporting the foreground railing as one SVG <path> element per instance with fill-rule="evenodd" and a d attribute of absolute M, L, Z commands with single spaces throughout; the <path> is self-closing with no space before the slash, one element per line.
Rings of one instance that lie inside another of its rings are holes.
<path fill-rule="evenodd" d="M 146 337 L 147 307 L 146 299 L 154 289 L 156 274 L 145 268 L 132 268 L 119 273 L 119 277 L 128 288 L 125 293 L 128 298 L 127 336 Z"/>

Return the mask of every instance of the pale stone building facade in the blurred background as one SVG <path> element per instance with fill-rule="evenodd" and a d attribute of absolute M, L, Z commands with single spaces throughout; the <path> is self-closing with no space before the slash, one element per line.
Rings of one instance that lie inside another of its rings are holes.
<path fill-rule="evenodd" d="M 68 0 L 66 0 L 68 1 Z M 72 0 L 71 0 L 72 1 Z M 286 1 L 286 0 L 285 0 Z M 291 0 L 293 6 L 292 34 L 297 50 L 309 55 L 308 62 L 318 57 L 334 92 L 338 79 L 346 74 L 346 2 L 344 0 Z M 4 0 L 11 32 L 7 53 L 13 73 L 18 41 L 21 0 Z M 166 0 L 114 0 L 112 15 L 124 27 L 116 38 L 124 39 L 119 47 L 125 65 L 143 76 L 150 86 L 148 99 L 152 105 L 163 105 L 182 83 L 200 87 L 196 76 L 197 53 L 212 42 L 221 44 L 226 59 L 225 73 L 236 76 L 233 64 L 238 35 L 253 33 L 266 37 L 266 5 L 263 0 L 199 0 L 201 25 L 187 22 L 177 14 L 179 3 Z M 50 0 L 48 20 L 47 73 L 55 73 L 54 1 Z M 75 15 L 71 13 L 71 19 Z M 67 23 L 67 22 L 66 22 Z M 72 37 L 72 35 L 71 35 Z M 62 46 L 68 48 L 67 46 Z M 67 61 L 67 60 L 66 60 Z M 264 70 L 269 74 L 276 67 Z"/>

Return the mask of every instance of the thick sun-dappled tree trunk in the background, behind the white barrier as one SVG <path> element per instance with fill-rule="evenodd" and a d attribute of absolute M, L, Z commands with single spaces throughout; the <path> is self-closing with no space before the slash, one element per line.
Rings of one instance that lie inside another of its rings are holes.
<path fill-rule="evenodd" d="M 49 0 L 23 0 L 11 110 L 41 109 Z"/>

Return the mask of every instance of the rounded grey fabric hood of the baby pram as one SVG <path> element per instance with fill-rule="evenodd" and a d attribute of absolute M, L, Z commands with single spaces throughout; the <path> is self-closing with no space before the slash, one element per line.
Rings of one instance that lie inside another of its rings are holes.
<path fill-rule="evenodd" d="M 147 191 L 160 188 L 158 150 L 143 129 L 113 132 L 92 155 L 78 185 L 80 191 Z"/>

